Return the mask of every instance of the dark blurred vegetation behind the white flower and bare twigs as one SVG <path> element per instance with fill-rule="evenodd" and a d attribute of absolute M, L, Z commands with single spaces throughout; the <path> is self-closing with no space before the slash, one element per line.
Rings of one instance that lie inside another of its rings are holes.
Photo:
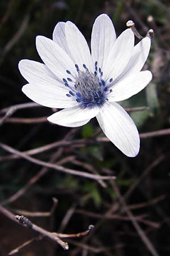
<path fill-rule="evenodd" d="M 57 22 L 71 20 L 90 43 L 92 24 L 97 15 L 107 13 L 113 20 L 117 35 L 132 19 L 138 31 L 145 36 L 149 28 L 155 31 L 150 56 L 144 69 L 150 69 L 153 80 L 146 90 L 122 102 L 125 108 L 147 106 L 149 109 L 130 112 L 137 123 L 141 137 L 141 150 L 136 158 L 123 155 L 111 142 L 87 143 L 80 147 L 59 147 L 33 157 L 55 162 L 68 157 L 63 166 L 101 175 L 117 176 L 116 187 L 126 199 L 145 236 L 152 242 L 158 255 L 170 254 L 169 207 L 169 98 L 170 98 L 170 2 L 159 0 L 8 0 L 0 2 L 0 96 L 1 109 L 30 102 L 22 93 L 25 80 L 18 70 L 21 59 L 41 61 L 36 52 L 35 37 L 52 38 Z M 136 39 L 136 43 L 139 40 Z M 15 112 L 1 125 L 1 142 L 26 151 L 31 148 L 67 139 L 90 139 L 100 133 L 93 119 L 86 126 L 71 131 L 46 122 L 53 110 L 28 108 Z M 1 110 L 1 118 L 5 111 Z M 41 120 L 36 118 L 43 117 Z M 22 119 L 16 119 L 22 118 Z M 24 119 L 23 119 L 24 118 Z M 28 119 L 27 119 L 28 118 Z M 30 121 L 29 118 L 35 118 Z M 24 120 L 24 121 L 22 121 Z M 25 121 L 26 120 L 26 121 Z M 161 131 L 151 135 L 149 132 Z M 72 133 L 72 134 L 70 134 Z M 70 135 L 68 135 L 70 134 Z M 103 135 L 103 134 L 101 134 Z M 69 137 L 70 136 L 70 137 Z M 15 195 L 42 167 L 24 159 L 5 158 L 1 149 L 0 200 Z M 72 157 L 72 158 L 71 158 Z M 70 159 L 70 160 L 69 160 Z M 135 184 L 135 185 L 134 185 Z M 62 174 L 49 169 L 37 182 L 11 203 L 3 204 L 15 214 L 20 210 L 49 212 L 52 198 L 58 200 L 57 209 L 49 217 L 29 216 L 44 229 L 76 233 L 94 224 L 90 237 L 70 241 L 70 250 L 63 251 L 51 241 L 37 241 L 25 246 L 16 255 L 154 255 L 141 240 L 120 204 L 115 189 L 108 181 L 106 187 L 94 180 Z M 109 217 L 104 217 L 110 211 Z M 70 215 L 69 215 L 70 214 Z M 25 214 L 27 216 L 27 214 Z M 7 255 L 36 234 L 18 226 L 1 215 L 0 255 Z M 84 247 L 84 245 L 88 245 Z M 155 254 L 156 255 L 156 254 Z"/>

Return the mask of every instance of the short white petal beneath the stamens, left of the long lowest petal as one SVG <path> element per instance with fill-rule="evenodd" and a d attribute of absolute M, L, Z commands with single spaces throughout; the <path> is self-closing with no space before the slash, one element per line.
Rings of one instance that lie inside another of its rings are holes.
<path fill-rule="evenodd" d="M 76 106 L 69 109 L 63 109 L 48 117 L 48 121 L 56 123 L 57 125 L 67 127 L 82 126 L 91 118 L 94 118 L 99 113 L 99 108 L 96 106 L 83 108 L 82 106 Z"/>

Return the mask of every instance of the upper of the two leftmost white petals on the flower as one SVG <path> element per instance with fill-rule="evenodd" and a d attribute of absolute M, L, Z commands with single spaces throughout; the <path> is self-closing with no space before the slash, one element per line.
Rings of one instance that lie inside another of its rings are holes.
<path fill-rule="evenodd" d="M 21 60 L 18 65 L 19 71 L 30 84 L 40 84 L 50 88 L 63 89 L 63 93 L 68 93 L 68 89 L 63 81 L 58 79 L 45 64 L 33 60 Z"/>

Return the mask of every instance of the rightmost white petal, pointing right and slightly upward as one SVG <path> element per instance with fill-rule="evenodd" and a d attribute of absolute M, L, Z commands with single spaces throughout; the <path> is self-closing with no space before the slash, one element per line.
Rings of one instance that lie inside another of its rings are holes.
<path fill-rule="evenodd" d="M 109 101 L 122 101 L 141 92 L 151 81 L 152 73 L 150 71 L 141 71 L 131 76 L 125 77 L 117 84 L 113 85 L 112 92 L 108 94 Z"/>

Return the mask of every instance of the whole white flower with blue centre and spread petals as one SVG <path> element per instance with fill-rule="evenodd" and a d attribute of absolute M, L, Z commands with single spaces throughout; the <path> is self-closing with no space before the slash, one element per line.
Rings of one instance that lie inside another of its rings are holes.
<path fill-rule="evenodd" d="M 22 90 L 31 100 L 49 108 L 61 108 L 48 117 L 57 125 L 77 127 L 96 117 L 104 134 L 125 155 L 139 152 L 137 127 L 117 104 L 140 92 L 152 79 L 141 71 L 151 40 L 134 46 L 134 34 L 126 29 L 118 38 L 111 19 L 101 14 L 91 35 L 91 52 L 74 23 L 57 23 L 53 40 L 36 37 L 44 64 L 21 60 L 19 70 L 28 81 Z"/>

